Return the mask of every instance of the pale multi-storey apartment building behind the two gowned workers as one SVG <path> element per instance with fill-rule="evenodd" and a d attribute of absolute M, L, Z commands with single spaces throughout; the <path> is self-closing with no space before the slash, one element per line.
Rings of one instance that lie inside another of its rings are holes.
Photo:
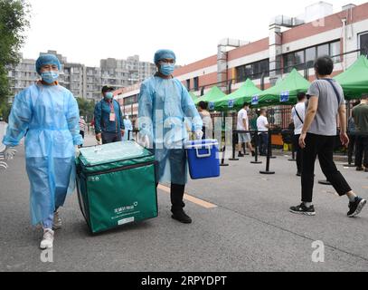
<path fill-rule="evenodd" d="M 69 63 L 65 56 L 56 51 L 47 53 L 55 54 L 61 62 L 60 84 L 75 97 L 95 102 L 101 99 L 101 89 L 104 85 L 122 89 L 143 82 L 156 72 L 155 64 L 140 62 L 138 55 L 127 57 L 127 60 L 109 58 L 101 60 L 99 67 L 89 67 L 81 63 Z M 40 53 L 42 54 L 46 53 Z M 8 78 L 13 97 L 40 79 L 35 72 L 35 62 L 21 58 L 21 62 L 9 70 Z"/>

